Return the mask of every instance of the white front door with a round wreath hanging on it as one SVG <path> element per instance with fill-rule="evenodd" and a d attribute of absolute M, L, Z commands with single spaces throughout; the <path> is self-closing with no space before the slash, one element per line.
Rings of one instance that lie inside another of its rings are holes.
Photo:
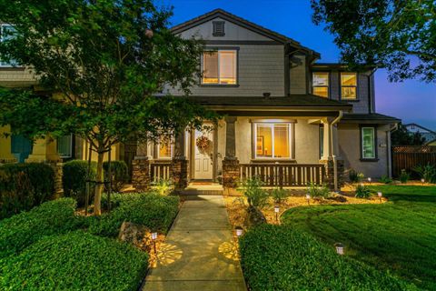
<path fill-rule="evenodd" d="M 193 178 L 213 179 L 213 131 L 195 130 L 193 140 Z"/>

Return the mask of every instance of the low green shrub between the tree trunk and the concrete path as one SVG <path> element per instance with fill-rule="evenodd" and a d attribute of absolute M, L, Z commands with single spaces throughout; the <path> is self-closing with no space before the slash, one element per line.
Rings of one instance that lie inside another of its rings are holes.
<path fill-rule="evenodd" d="M 124 221 L 147 226 L 153 231 L 166 233 L 177 215 L 178 196 L 154 193 L 115 194 L 114 210 L 94 217 L 89 231 L 98 236 L 118 236 Z"/>

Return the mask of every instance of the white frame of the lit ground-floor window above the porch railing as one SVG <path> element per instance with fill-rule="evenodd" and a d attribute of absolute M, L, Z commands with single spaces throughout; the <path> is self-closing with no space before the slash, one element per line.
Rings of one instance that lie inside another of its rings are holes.
<path fill-rule="evenodd" d="M 272 127 L 272 156 L 257 156 L 257 125 L 270 125 Z M 289 156 L 286 157 L 275 157 L 275 145 L 274 145 L 274 126 L 275 125 L 287 125 L 288 129 L 288 140 L 289 140 Z M 294 123 L 292 122 L 253 122 L 253 135 L 252 135 L 252 145 L 253 145 L 253 160 L 256 161 L 274 161 L 274 160 L 281 160 L 281 161 L 290 161 L 293 160 L 293 151 L 294 151 L 294 130 L 293 130 Z"/>

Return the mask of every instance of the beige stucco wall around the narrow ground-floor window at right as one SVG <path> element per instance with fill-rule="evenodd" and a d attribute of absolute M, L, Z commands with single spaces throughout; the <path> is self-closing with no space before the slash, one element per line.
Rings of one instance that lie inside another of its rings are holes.
<path fill-rule="evenodd" d="M 361 158 L 361 140 L 360 128 L 357 124 L 340 124 L 339 125 L 339 150 L 340 156 L 344 160 L 345 170 L 354 169 L 365 176 L 381 177 L 388 175 L 388 158 L 387 158 L 387 136 L 385 126 L 379 126 L 377 129 L 377 152 L 379 160 L 377 162 L 362 162 Z"/>

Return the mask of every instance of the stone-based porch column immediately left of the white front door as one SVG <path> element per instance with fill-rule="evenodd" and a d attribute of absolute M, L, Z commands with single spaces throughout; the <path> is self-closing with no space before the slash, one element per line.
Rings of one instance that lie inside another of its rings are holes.
<path fill-rule="evenodd" d="M 174 156 L 171 161 L 174 188 L 177 191 L 188 186 L 188 160 L 185 156 L 185 134 L 184 130 L 175 134 Z"/>

